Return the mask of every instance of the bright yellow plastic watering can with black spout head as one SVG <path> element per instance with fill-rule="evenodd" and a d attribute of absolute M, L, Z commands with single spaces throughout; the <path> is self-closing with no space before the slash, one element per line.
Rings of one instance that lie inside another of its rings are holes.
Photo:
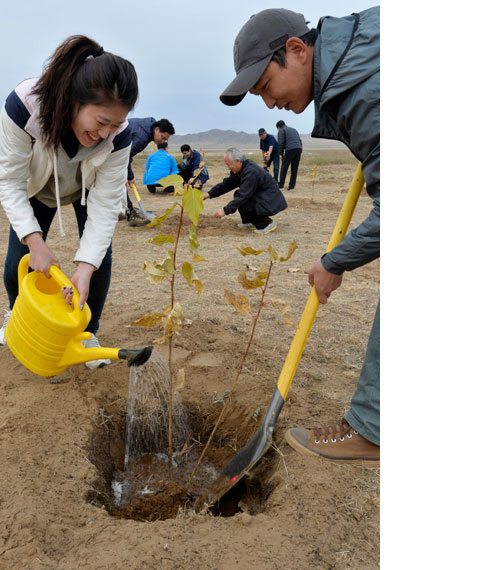
<path fill-rule="evenodd" d="M 75 289 L 73 305 L 66 304 L 61 287 L 72 287 L 71 281 L 55 265 L 47 279 L 43 273 L 29 269 L 29 254 L 19 262 L 19 295 L 5 328 L 5 340 L 21 364 L 39 376 L 56 376 L 68 366 L 98 360 L 118 358 L 129 366 L 144 364 L 153 351 L 152 346 L 136 350 L 119 348 L 85 348 L 82 340 L 91 333 L 84 332 L 92 316 L 85 303 L 79 308 L 80 295 Z"/>

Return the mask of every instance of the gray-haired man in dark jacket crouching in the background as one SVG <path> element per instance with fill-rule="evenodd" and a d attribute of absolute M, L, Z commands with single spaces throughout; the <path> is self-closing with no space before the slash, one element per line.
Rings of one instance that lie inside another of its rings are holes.
<path fill-rule="evenodd" d="M 268 234 L 278 226 L 270 216 L 287 208 L 283 193 L 280 192 L 276 180 L 253 160 L 249 160 L 241 150 L 231 147 L 226 150 L 224 162 L 231 174 L 216 184 L 203 195 L 204 200 L 217 198 L 235 188 L 233 199 L 222 210 L 215 212 L 216 218 L 223 218 L 240 213 L 239 228 L 254 230 L 259 234 Z"/>

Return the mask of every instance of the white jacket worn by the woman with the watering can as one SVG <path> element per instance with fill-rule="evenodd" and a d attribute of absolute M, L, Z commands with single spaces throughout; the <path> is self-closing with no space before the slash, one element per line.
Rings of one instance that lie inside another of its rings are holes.
<path fill-rule="evenodd" d="M 30 113 L 24 129 L 7 114 L 0 113 L 0 202 L 9 221 L 22 241 L 28 234 L 40 232 L 29 199 L 36 196 L 55 173 L 56 201 L 62 229 L 58 195 L 57 158 L 42 140 L 38 124 L 38 108 L 31 93 L 36 79 L 23 81 L 16 94 Z M 113 152 L 113 139 L 128 126 L 125 121 L 105 144 L 80 163 L 82 172 L 82 204 L 87 198 L 87 221 L 74 261 L 84 261 L 99 267 L 111 243 L 122 199 L 126 192 L 130 145 Z"/>

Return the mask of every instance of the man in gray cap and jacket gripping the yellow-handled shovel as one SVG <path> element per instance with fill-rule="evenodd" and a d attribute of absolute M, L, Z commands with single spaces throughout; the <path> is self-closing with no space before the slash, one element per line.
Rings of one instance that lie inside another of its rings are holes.
<path fill-rule="evenodd" d="M 272 47 L 271 47 L 272 46 Z M 309 270 L 320 303 L 340 287 L 344 271 L 380 255 L 380 11 L 326 16 L 309 29 L 302 14 L 259 12 L 234 44 L 236 78 L 221 95 L 237 105 L 247 91 L 269 108 L 302 113 L 314 100 L 313 137 L 340 140 L 361 162 L 373 199 L 370 215 Z M 329 459 L 380 457 L 380 328 L 375 312 L 365 361 L 351 408 L 340 424 L 293 428 L 288 443 L 300 453 Z"/>

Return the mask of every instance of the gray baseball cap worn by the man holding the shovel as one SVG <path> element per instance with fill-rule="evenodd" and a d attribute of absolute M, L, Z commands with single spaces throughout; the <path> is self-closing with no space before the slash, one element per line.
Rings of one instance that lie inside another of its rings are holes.
<path fill-rule="evenodd" d="M 224 105 L 237 105 L 259 80 L 273 53 L 289 38 L 300 38 L 309 28 L 302 14 L 285 8 L 271 8 L 253 15 L 234 40 L 236 77 L 221 93 Z"/>

